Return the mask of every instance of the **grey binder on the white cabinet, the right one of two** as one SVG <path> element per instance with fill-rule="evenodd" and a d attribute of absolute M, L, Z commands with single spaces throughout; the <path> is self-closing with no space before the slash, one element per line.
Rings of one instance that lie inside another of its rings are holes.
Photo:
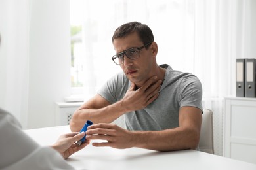
<path fill-rule="evenodd" d="M 256 97 L 256 59 L 245 59 L 245 97 Z"/>

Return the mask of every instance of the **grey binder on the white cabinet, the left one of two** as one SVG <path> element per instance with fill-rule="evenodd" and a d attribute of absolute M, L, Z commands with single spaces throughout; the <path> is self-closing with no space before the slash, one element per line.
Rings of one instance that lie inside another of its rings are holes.
<path fill-rule="evenodd" d="M 236 97 L 245 97 L 245 59 L 236 59 Z"/>

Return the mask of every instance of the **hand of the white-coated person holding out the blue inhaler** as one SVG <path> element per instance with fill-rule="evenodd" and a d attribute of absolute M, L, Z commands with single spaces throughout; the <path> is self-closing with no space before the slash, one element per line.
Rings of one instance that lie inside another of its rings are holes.
<path fill-rule="evenodd" d="M 85 142 L 82 143 L 81 146 L 75 143 L 75 141 L 79 141 L 84 136 L 84 132 L 72 132 L 61 135 L 56 141 L 56 143 L 54 143 L 51 147 L 60 152 L 63 158 L 66 159 L 75 152 L 81 150 L 82 148 L 85 148 L 85 146 L 87 146 L 90 143 L 90 141 L 88 140 L 85 140 Z"/>

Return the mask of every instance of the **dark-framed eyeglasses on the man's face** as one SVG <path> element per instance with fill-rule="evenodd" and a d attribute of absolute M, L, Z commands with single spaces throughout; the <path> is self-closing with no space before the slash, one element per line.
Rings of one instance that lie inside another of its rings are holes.
<path fill-rule="evenodd" d="M 151 43 L 152 42 L 150 42 L 150 43 L 148 43 L 148 44 L 146 44 L 144 46 L 140 46 L 139 48 L 135 48 L 135 47 L 129 48 L 128 50 L 125 50 L 123 52 L 120 52 L 120 53 L 114 55 L 112 57 L 112 60 L 117 65 L 121 65 L 123 63 L 123 61 L 125 61 L 125 59 L 124 59 L 125 56 L 127 56 L 127 58 L 129 58 L 131 60 L 135 60 L 135 59 L 140 57 L 140 50 L 142 50 L 144 47 L 148 46 Z"/>

